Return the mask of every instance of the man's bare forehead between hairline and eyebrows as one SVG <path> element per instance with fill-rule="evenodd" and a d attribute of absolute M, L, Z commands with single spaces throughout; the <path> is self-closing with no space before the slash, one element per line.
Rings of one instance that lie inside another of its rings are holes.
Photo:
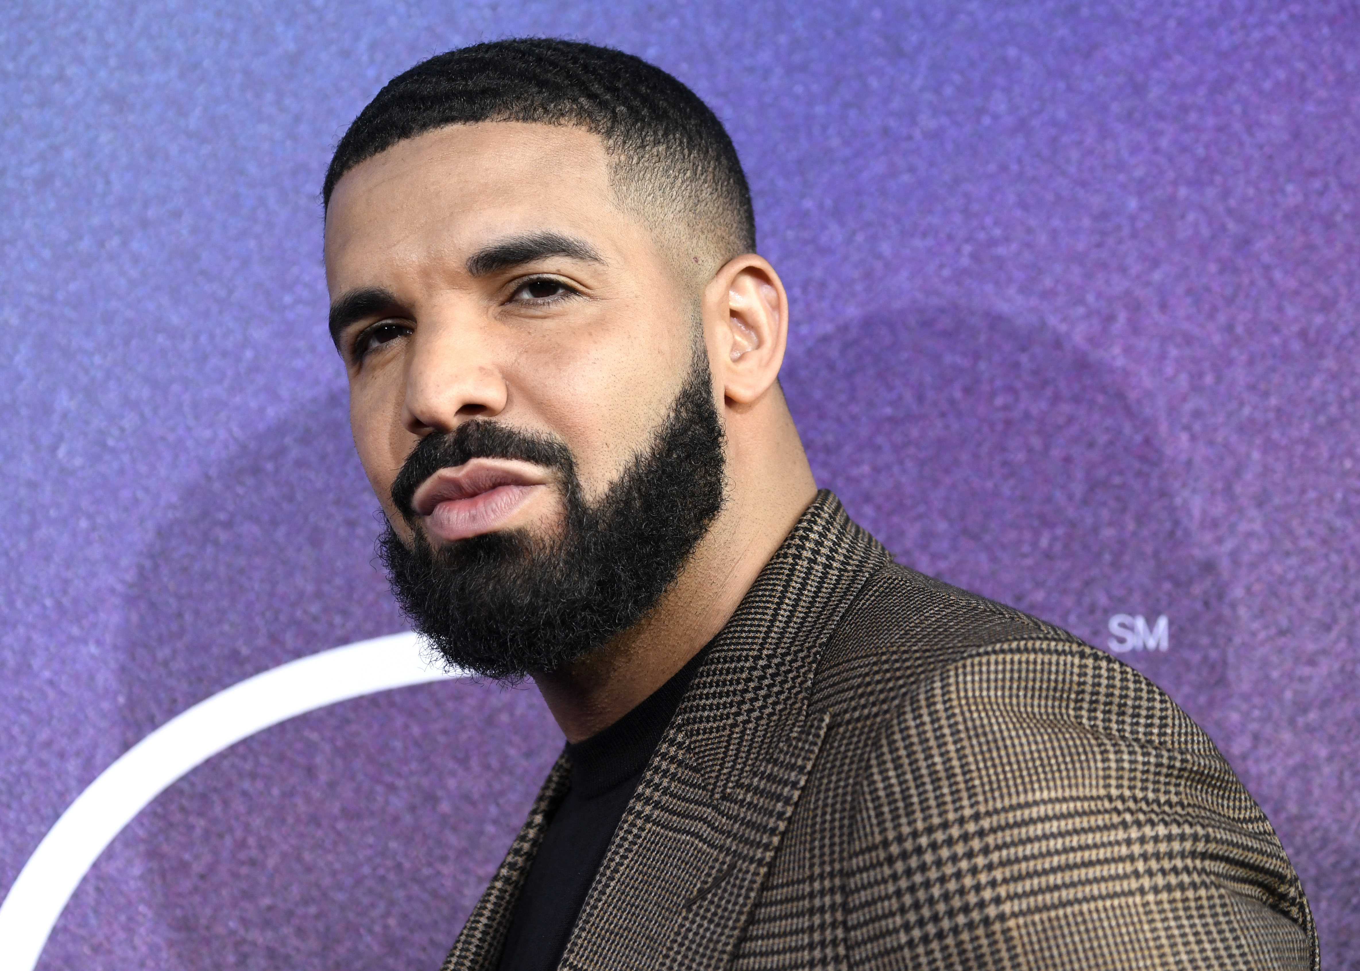
<path fill-rule="evenodd" d="M 513 121 L 452 125 L 398 141 L 336 184 L 326 276 L 374 260 L 456 258 L 480 242 L 552 228 L 594 239 L 631 223 L 613 204 L 609 159 L 583 128 Z"/>

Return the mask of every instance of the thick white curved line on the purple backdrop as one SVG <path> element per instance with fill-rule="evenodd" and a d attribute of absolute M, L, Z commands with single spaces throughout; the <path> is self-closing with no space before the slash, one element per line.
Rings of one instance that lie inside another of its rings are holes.
<path fill-rule="evenodd" d="M 362 695 L 447 675 L 415 634 L 321 651 L 219 691 L 175 715 L 99 774 L 38 843 L 0 904 L 0 971 L 33 971 L 80 880 L 122 827 L 218 752 L 271 725 Z"/>

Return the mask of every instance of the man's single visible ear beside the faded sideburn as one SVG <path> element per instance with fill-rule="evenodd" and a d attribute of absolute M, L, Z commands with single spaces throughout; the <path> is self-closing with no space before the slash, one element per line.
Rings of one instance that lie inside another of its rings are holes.
<path fill-rule="evenodd" d="M 703 290 L 703 330 L 726 401 L 758 401 L 779 377 L 789 343 L 789 295 L 774 267 L 755 253 L 722 267 Z"/>

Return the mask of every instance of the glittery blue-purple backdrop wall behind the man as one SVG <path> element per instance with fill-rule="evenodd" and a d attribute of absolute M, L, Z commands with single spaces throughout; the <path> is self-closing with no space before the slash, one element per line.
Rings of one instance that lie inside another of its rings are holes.
<path fill-rule="evenodd" d="M 118 755 L 401 628 L 324 333 L 316 192 L 480 38 L 649 57 L 728 122 L 823 484 L 898 556 L 1122 657 L 1223 748 L 1360 968 L 1360 7 L 10 4 L 0 31 L 0 889 Z M 193 771 L 48 971 L 434 968 L 559 736 L 403 688 Z"/>

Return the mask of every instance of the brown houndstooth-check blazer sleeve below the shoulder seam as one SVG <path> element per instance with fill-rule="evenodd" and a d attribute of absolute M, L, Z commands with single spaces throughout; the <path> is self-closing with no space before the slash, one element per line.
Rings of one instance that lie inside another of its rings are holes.
<path fill-rule="evenodd" d="M 1213 743 L 1085 645 L 990 645 L 936 670 L 861 786 L 850 967 L 1319 966 L 1299 879 Z"/>

